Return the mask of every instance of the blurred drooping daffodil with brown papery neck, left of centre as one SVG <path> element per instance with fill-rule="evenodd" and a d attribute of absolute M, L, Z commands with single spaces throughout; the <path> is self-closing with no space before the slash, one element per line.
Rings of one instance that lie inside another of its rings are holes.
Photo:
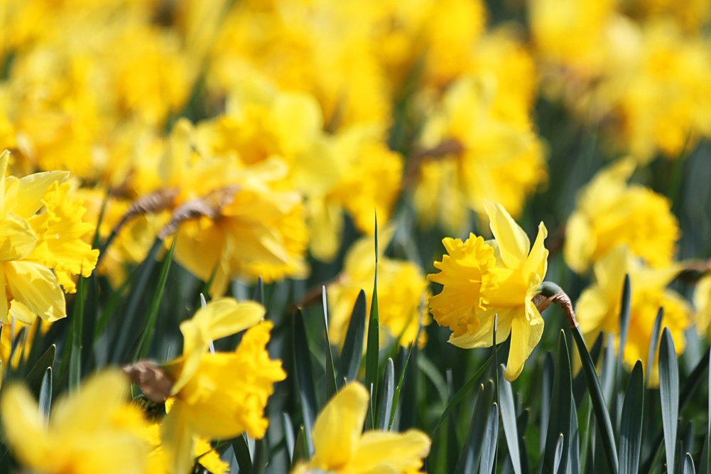
<path fill-rule="evenodd" d="M 208 169 L 223 173 L 219 166 Z M 181 223 L 176 261 L 204 281 L 210 280 L 217 266 L 212 295 L 222 295 L 230 278 L 261 276 L 270 282 L 306 274 L 308 234 L 301 196 L 271 187 L 286 174 L 279 159 L 244 169 L 235 176 L 233 187 L 206 194 L 213 217 Z M 196 173 L 193 178 L 200 176 Z"/>

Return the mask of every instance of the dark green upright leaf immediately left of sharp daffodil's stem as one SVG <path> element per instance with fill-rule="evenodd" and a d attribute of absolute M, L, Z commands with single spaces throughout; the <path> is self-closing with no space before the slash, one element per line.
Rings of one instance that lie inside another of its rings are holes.
<path fill-rule="evenodd" d="M 555 375 L 553 376 L 553 391 L 550 399 L 550 418 L 548 418 L 547 438 L 545 453 L 543 455 L 543 470 L 546 473 L 557 473 L 555 459 L 557 458 L 557 443 L 560 435 L 563 438 L 560 465 L 568 463 L 570 441 L 572 439 L 571 421 L 572 414 L 572 376 L 570 375 L 570 356 L 565 340 L 565 332 L 560 331 L 558 337 L 558 351 L 555 358 Z"/>

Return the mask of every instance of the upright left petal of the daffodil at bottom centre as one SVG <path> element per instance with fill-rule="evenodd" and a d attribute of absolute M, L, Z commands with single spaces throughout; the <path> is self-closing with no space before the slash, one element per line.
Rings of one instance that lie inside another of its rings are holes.
<path fill-rule="evenodd" d="M 321 470 L 337 469 L 353 458 L 368 411 L 368 391 L 351 382 L 333 396 L 316 418 L 311 465 Z"/>

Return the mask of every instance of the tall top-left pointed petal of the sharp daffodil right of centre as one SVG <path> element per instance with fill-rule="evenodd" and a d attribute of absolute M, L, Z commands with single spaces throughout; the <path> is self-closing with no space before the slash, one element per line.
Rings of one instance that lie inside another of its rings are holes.
<path fill-rule="evenodd" d="M 491 221 L 491 232 L 496 237 L 503 262 L 512 270 L 521 268 L 530 250 L 528 236 L 501 204 L 485 200 L 484 209 Z"/>

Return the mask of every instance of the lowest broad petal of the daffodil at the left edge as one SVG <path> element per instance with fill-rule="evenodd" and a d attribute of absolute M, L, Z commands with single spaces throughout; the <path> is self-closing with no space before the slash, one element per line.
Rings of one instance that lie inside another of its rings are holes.
<path fill-rule="evenodd" d="M 66 317 L 64 292 L 49 268 L 28 262 L 3 265 L 14 299 L 46 321 Z"/>

